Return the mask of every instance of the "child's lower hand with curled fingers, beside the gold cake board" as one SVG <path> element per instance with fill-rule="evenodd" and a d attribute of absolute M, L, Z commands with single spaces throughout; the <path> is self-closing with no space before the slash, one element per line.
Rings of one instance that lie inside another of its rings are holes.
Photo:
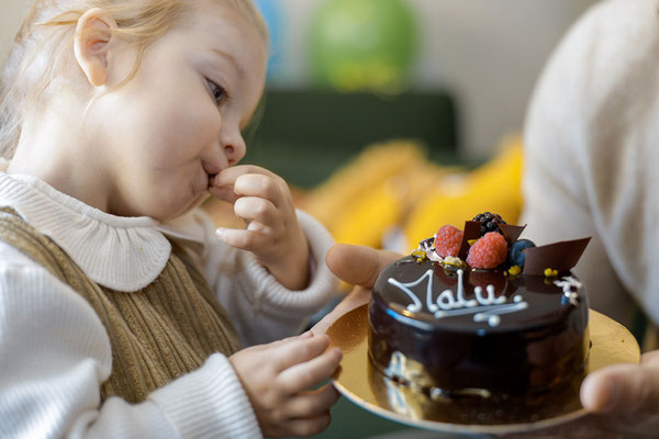
<path fill-rule="evenodd" d="M 327 383 L 342 358 L 325 335 L 292 337 L 243 349 L 230 357 L 264 436 L 311 436 L 330 424 L 339 394 Z"/>

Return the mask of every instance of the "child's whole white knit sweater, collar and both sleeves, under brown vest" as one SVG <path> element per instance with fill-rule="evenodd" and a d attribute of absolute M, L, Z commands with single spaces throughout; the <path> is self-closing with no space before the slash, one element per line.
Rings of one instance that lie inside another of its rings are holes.
<path fill-rule="evenodd" d="M 254 256 L 214 236 L 196 210 L 171 224 L 118 217 L 27 176 L 0 172 L 0 206 L 16 210 L 97 283 L 125 292 L 150 283 L 170 254 L 166 236 L 188 240 L 242 341 L 292 335 L 331 299 L 325 266 L 332 237 L 299 212 L 315 266 L 310 286 L 289 291 Z M 153 392 L 142 404 L 100 404 L 112 368 L 110 341 L 92 307 L 15 248 L 0 243 L 0 437 L 252 438 L 260 430 L 226 357 Z"/>

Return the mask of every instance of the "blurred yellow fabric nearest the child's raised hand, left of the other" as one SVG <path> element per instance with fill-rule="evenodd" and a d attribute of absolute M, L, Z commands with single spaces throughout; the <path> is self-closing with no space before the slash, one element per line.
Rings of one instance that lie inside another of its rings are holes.
<path fill-rule="evenodd" d="M 412 142 L 375 145 L 309 192 L 301 207 L 316 217 L 337 243 L 382 247 L 426 189 L 451 168 L 431 164 Z"/>

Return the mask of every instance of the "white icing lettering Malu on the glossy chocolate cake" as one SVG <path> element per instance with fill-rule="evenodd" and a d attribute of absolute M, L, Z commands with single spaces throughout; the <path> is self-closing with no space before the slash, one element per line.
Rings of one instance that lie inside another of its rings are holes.
<path fill-rule="evenodd" d="M 426 308 L 435 318 L 473 314 L 473 322 L 487 320 L 490 326 L 494 327 L 499 326 L 501 314 L 511 314 L 528 307 L 528 303 L 520 294 L 512 297 L 513 303 L 509 303 L 507 297 L 504 295 L 495 297 L 494 285 L 485 286 L 487 294 L 483 294 L 482 288 L 477 286 L 473 289 L 476 299 L 466 300 L 462 275 L 463 271 L 458 270 L 458 291 L 456 295 L 454 295 L 453 290 L 444 290 L 435 302 L 433 302 L 433 270 L 427 270 L 421 278 L 413 282 L 402 283 L 393 278 L 389 278 L 387 281 L 399 288 L 412 300 L 412 303 L 407 305 L 407 311 L 418 313 L 423 309 L 423 304 L 410 288 L 418 285 L 427 278 Z"/>

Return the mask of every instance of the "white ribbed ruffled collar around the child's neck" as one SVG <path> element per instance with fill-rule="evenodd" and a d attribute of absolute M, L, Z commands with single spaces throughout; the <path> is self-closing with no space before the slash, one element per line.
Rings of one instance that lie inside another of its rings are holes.
<path fill-rule="evenodd" d="M 90 279 L 113 290 L 148 285 L 171 251 L 157 221 L 107 214 L 35 177 L 0 172 L 0 205 L 14 209 Z"/>

